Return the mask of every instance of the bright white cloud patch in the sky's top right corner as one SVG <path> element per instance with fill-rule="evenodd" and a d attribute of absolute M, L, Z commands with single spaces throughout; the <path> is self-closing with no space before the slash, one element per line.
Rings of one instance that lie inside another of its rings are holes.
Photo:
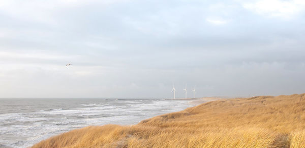
<path fill-rule="evenodd" d="M 305 2 L 301 0 L 259 0 L 242 4 L 243 8 L 257 14 L 269 17 L 291 18 L 299 14 L 305 8 Z"/>

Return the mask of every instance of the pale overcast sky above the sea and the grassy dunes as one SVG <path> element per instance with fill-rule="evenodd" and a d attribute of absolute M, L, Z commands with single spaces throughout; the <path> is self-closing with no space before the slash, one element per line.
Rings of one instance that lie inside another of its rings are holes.
<path fill-rule="evenodd" d="M 304 93 L 304 18 L 303 0 L 1 0 L 0 97 Z"/>

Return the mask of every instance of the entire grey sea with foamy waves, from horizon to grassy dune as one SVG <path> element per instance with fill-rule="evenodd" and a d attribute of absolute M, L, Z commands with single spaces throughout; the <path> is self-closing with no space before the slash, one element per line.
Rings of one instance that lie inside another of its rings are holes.
<path fill-rule="evenodd" d="M 164 98 L 0 98 L 0 147 L 29 147 L 89 125 L 134 125 L 192 106 Z"/>

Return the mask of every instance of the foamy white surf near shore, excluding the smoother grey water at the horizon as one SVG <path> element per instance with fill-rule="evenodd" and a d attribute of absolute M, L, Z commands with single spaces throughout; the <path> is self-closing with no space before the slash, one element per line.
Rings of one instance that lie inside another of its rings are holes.
<path fill-rule="evenodd" d="M 171 100 L 113 100 L 78 104 L 73 108 L 57 106 L 36 112 L 0 114 L 0 135 L 10 140 L 1 144 L 27 147 L 50 136 L 88 125 L 131 125 L 147 118 L 190 107 L 187 101 Z M 0 138 L 1 139 L 1 138 Z"/>

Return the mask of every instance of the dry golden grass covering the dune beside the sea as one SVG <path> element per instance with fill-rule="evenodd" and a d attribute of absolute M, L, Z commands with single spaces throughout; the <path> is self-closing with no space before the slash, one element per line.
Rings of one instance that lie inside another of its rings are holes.
<path fill-rule="evenodd" d="M 305 94 L 205 103 L 133 126 L 89 126 L 36 147 L 305 147 Z"/>

